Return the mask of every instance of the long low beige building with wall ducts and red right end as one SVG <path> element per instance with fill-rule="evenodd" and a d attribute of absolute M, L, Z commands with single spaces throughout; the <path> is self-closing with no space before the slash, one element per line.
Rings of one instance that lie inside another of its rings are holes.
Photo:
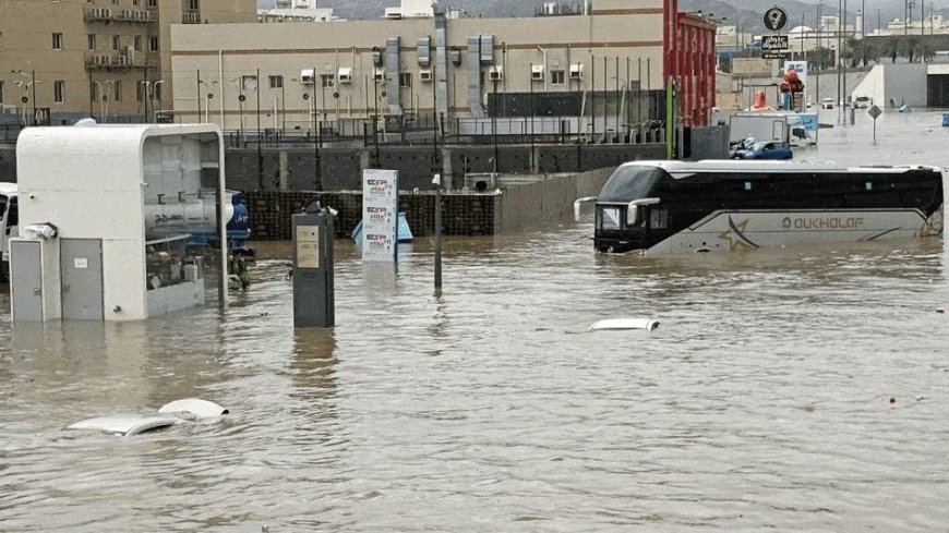
<path fill-rule="evenodd" d="M 422 114 L 575 117 L 576 126 L 582 116 L 597 131 L 616 131 L 664 117 L 630 110 L 642 99 L 629 95 L 664 92 L 673 80 L 682 122 L 707 123 L 711 22 L 678 13 L 675 0 L 590 0 L 582 11 L 545 12 L 175 26 L 176 120 L 305 131 L 316 121 Z"/>

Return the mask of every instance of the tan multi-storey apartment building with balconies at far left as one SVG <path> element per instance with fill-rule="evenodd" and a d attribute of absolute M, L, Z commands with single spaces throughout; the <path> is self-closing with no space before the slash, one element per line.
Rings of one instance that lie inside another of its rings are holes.
<path fill-rule="evenodd" d="M 155 120 L 173 25 L 256 20 L 254 0 L 0 0 L 0 120 Z"/>

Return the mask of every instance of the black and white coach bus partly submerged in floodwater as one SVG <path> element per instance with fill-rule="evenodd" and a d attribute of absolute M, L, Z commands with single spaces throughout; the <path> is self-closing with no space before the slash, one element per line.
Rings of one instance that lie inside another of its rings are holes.
<path fill-rule="evenodd" d="M 941 237 L 942 169 L 635 161 L 596 202 L 602 253 L 705 253 Z"/>

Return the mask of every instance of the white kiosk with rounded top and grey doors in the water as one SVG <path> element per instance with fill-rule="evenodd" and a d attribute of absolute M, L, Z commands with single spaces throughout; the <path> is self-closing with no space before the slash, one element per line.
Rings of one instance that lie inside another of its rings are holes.
<path fill-rule="evenodd" d="M 13 320 L 139 320 L 203 304 L 204 258 L 191 245 L 211 231 L 226 247 L 220 130 L 89 122 L 20 134 Z M 226 272 L 227 254 L 215 255 Z"/>

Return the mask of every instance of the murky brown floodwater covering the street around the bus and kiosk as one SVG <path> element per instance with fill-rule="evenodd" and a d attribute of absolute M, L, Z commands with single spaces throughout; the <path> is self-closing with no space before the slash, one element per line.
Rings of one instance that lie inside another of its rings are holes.
<path fill-rule="evenodd" d="M 949 166 L 937 117 L 887 112 L 874 147 L 857 110 L 796 155 Z M 331 330 L 293 329 L 286 243 L 225 312 L 13 326 L 3 287 L 0 530 L 949 523 L 941 241 L 644 258 L 591 231 L 451 239 L 441 295 L 428 240 L 397 274 L 338 241 Z M 612 317 L 660 326 L 586 331 Z M 63 431 L 189 397 L 231 414 Z"/>

